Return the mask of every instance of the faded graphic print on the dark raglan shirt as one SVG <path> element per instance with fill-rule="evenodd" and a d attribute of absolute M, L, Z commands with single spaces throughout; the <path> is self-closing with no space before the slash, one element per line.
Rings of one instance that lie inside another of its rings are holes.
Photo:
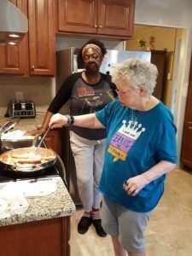
<path fill-rule="evenodd" d="M 79 100 L 83 101 L 82 113 L 96 113 L 104 107 L 106 102 L 114 100 L 113 93 L 110 90 L 87 90 L 84 87 L 77 88 L 77 96 Z"/>

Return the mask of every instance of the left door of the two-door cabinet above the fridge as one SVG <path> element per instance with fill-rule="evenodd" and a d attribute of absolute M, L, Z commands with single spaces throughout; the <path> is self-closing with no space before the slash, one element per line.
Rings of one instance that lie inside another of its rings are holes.
<path fill-rule="evenodd" d="M 59 0 L 58 32 L 96 33 L 97 0 Z"/>

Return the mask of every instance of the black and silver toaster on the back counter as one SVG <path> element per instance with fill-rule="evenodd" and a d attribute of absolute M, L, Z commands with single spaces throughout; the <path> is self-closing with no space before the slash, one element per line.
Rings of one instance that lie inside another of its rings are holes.
<path fill-rule="evenodd" d="M 8 106 L 8 115 L 12 117 L 35 118 L 35 104 L 32 101 L 11 101 Z"/>

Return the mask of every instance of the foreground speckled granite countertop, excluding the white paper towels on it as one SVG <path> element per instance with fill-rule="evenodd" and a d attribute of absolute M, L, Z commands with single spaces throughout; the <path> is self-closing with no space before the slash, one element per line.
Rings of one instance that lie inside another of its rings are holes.
<path fill-rule="evenodd" d="M 44 182 L 46 182 L 46 178 L 42 178 L 41 180 L 44 179 Z M 27 196 L 26 200 L 29 203 L 29 207 L 26 212 L 12 215 L 9 218 L 1 218 L 0 226 L 72 215 L 75 212 L 75 206 L 61 177 L 55 176 L 51 177 L 51 179 L 54 179 L 57 183 L 57 189 L 54 193 L 44 196 Z M 20 185 L 22 185 L 22 182 L 22 180 L 16 181 L 16 183 L 20 183 Z M 0 188 L 5 184 L 6 183 L 0 183 Z"/>

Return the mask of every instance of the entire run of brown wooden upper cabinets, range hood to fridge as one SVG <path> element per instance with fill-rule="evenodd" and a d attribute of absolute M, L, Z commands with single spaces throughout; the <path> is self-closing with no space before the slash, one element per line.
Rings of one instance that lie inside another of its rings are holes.
<path fill-rule="evenodd" d="M 132 36 L 135 0 L 9 1 L 28 17 L 29 31 L 17 45 L 0 45 L 0 74 L 55 76 L 55 31 L 102 38 Z"/>

